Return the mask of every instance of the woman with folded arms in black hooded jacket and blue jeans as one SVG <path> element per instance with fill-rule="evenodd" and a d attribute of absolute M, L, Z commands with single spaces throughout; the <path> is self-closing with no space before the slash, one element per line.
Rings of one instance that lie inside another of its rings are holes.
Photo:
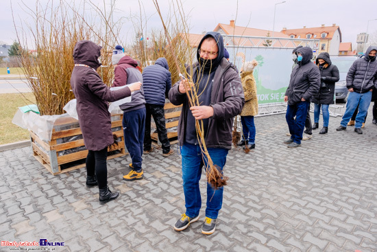
<path fill-rule="evenodd" d="M 328 120 L 330 119 L 328 106 L 334 104 L 335 82 L 339 80 L 339 70 L 336 65 L 331 64 L 330 55 L 327 52 L 319 54 L 315 63 L 321 73 L 321 87 L 319 87 L 319 92 L 313 95 L 312 99 L 314 103 L 313 130 L 318 128 L 319 114 L 322 108 L 324 128 L 319 131 L 319 134 L 326 134 L 328 132 Z"/>

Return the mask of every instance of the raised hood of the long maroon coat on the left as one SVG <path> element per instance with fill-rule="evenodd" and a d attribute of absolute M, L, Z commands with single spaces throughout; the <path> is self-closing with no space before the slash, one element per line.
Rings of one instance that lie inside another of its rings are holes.
<path fill-rule="evenodd" d="M 98 61 L 101 56 L 101 46 L 92 41 L 79 41 L 73 48 L 73 61 L 75 64 L 84 64 L 96 69 L 101 66 Z"/>

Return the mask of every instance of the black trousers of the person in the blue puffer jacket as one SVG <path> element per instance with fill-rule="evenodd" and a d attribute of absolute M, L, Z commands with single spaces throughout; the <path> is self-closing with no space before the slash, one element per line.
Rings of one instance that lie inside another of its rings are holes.
<path fill-rule="evenodd" d="M 158 139 L 161 142 L 162 153 L 170 151 L 170 142 L 167 138 L 167 128 L 165 125 L 165 111 L 163 105 L 145 104 L 147 115 L 145 117 L 145 134 L 144 134 L 144 150 L 151 149 L 151 117 L 153 116 L 156 123 Z"/>

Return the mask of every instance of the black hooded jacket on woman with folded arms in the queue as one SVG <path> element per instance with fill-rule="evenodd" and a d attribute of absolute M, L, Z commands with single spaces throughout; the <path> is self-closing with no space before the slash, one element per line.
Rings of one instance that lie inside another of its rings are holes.
<path fill-rule="evenodd" d="M 319 65 L 319 58 L 325 60 L 325 65 Z M 316 104 L 334 104 L 335 82 L 339 81 L 339 70 L 332 65 L 330 55 L 327 52 L 319 54 L 315 63 L 321 73 L 321 86 L 319 92 L 313 95 L 312 102 Z"/>

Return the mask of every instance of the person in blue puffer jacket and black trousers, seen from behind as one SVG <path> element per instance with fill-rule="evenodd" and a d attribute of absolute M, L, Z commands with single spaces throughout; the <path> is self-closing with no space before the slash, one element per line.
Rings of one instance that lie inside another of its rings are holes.
<path fill-rule="evenodd" d="M 158 139 L 162 146 L 162 156 L 169 157 L 174 153 L 174 150 L 170 149 L 165 126 L 165 97 L 171 89 L 171 73 L 166 58 L 158 58 L 154 65 L 145 67 L 143 70 L 143 87 L 145 102 L 147 102 L 145 104 L 147 115 L 145 117 L 143 153 L 149 154 L 154 150 L 151 146 L 151 116 L 153 116 Z"/>

